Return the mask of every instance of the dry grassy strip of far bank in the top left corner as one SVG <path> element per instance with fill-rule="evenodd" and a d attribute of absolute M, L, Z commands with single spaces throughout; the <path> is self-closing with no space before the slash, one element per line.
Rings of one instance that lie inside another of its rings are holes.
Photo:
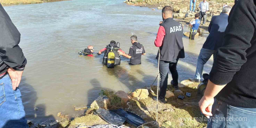
<path fill-rule="evenodd" d="M 0 0 L 2 6 L 13 6 L 20 4 L 34 4 L 34 3 L 45 3 L 45 2 L 57 2 L 65 0 Z"/>

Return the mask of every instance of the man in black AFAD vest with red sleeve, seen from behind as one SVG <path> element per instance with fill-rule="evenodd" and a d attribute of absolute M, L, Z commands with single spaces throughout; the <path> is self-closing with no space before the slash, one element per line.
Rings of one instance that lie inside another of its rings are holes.
<path fill-rule="evenodd" d="M 160 47 L 159 70 L 160 70 L 160 95 L 158 99 L 161 103 L 166 103 L 165 95 L 168 85 L 168 72 L 170 70 L 173 77 L 174 92 L 180 92 L 178 86 L 178 72 L 176 66 L 179 58 L 185 58 L 183 47 L 183 27 L 173 18 L 173 8 L 165 6 L 162 10 L 163 22 L 161 22 L 155 46 Z M 154 97 L 157 100 L 157 97 Z"/>

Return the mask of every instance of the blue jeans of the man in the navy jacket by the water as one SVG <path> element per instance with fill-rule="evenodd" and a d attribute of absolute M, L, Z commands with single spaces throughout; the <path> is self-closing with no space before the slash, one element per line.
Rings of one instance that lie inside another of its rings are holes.
<path fill-rule="evenodd" d="M 204 48 L 200 50 L 200 54 L 197 59 L 194 79 L 201 79 L 204 65 L 211 58 L 211 55 L 213 55 L 213 57 L 215 56 L 215 50 L 204 49 Z"/>

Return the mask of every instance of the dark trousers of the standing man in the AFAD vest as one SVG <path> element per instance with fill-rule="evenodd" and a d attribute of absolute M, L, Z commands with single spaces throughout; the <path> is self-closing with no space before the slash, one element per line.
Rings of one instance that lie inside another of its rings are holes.
<path fill-rule="evenodd" d="M 164 98 L 166 95 L 166 89 L 168 85 L 168 72 L 170 70 L 173 77 L 173 85 L 178 85 L 178 72 L 176 70 L 178 60 L 169 61 L 159 61 L 159 71 L 160 71 L 160 98 Z"/>

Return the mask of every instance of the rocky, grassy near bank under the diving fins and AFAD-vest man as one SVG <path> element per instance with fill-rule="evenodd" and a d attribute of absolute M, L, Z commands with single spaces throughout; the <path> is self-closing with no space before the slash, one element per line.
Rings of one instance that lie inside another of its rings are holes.
<path fill-rule="evenodd" d="M 194 83 L 189 80 L 184 80 L 179 83 L 182 92 L 173 93 L 174 88 L 168 85 L 166 90 L 166 104 L 159 103 L 158 106 L 158 122 L 160 126 L 166 128 L 202 128 L 206 126 L 206 121 L 196 120 L 203 117 L 200 114 L 198 102 L 201 96 L 198 94 L 199 83 Z M 109 91 L 102 90 L 99 97 L 90 106 L 74 106 L 77 111 L 83 111 L 84 114 L 79 117 L 69 117 L 62 113 L 56 113 L 58 120 L 47 120 L 39 124 L 31 124 L 32 128 L 76 128 L 84 125 L 102 125 L 108 124 L 102 120 L 95 111 L 99 108 L 103 109 L 119 109 L 130 111 L 139 115 L 146 122 L 156 120 L 156 101 L 153 97 L 156 96 L 157 86 L 150 86 L 141 89 L 136 89 L 133 92 L 125 93 L 124 91 Z M 186 92 L 191 93 L 191 97 L 186 97 Z M 183 100 L 178 99 L 179 95 L 184 95 Z M 203 117 L 205 118 L 205 117 Z M 192 119 L 192 120 L 186 120 Z M 135 128 L 128 123 L 124 124 L 130 128 Z M 148 127 L 152 127 L 147 125 Z"/>

